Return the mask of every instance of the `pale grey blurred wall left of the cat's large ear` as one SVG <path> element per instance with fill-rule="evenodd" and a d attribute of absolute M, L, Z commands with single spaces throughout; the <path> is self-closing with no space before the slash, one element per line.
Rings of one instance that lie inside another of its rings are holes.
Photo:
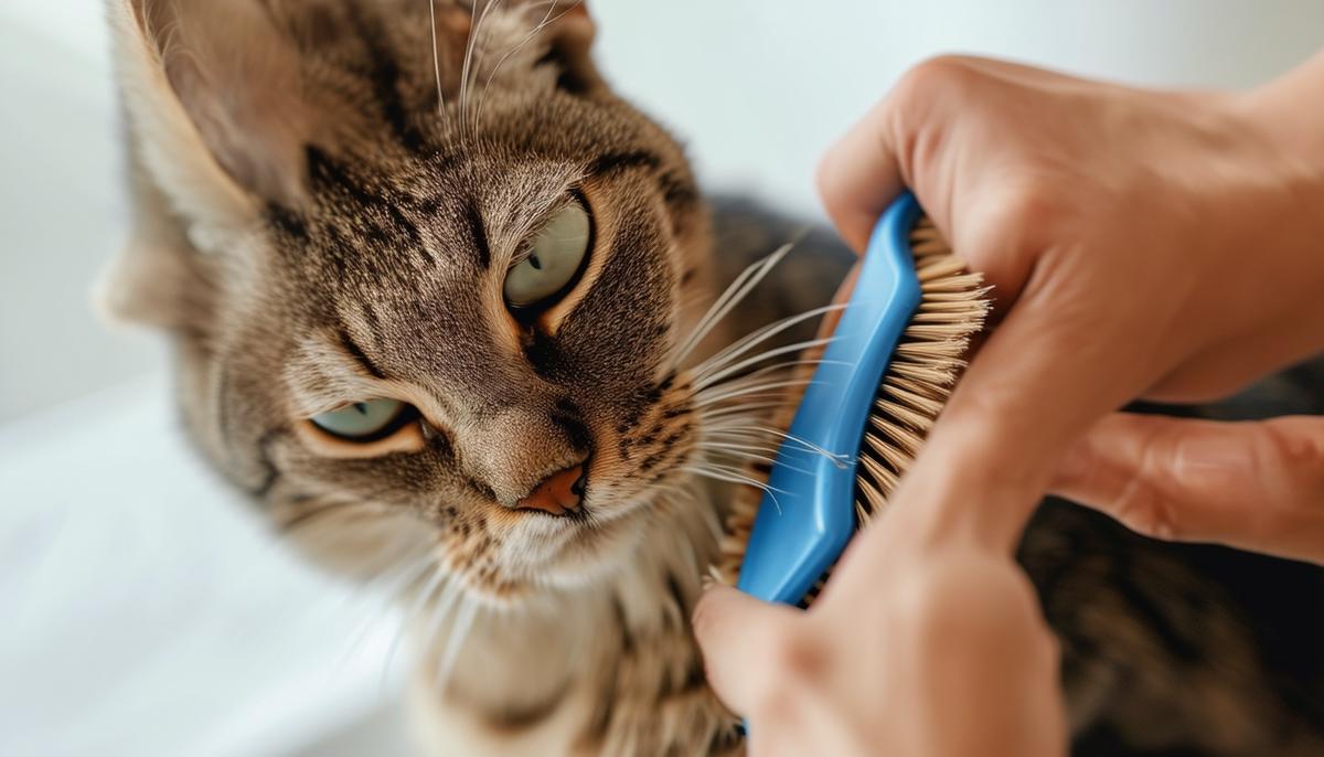
<path fill-rule="evenodd" d="M 126 229 L 101 7 L 0 4 L 0 422 L 154 361 L 89 308 Z"/>

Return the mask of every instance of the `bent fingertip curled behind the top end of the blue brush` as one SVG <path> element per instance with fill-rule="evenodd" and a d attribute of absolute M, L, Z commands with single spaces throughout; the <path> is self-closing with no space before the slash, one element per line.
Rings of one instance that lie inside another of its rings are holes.
<path fill-rule="evenodd" d="M 818 196 L 837 232 L 863 253 L 878 217 L 904 188 L 890 136 L 892 105 L 883 99 L 818 163 Z"/>

